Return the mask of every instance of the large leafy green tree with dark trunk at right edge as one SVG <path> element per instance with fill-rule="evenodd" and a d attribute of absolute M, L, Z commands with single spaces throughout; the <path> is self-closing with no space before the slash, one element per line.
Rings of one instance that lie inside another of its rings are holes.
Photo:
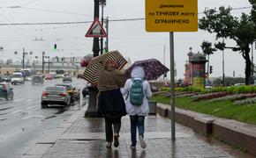
<path fill-rule="evenodd" d="M 251 3 L 255 3 L 255 0 L 251 1 Z M 230 11 L 232 10 L 230 7 L 220 7 L 219 11 L 209 9 L 204 11 L 205 17 L 200 18 L 199 23 L 200 29 L 210 33 L 215 32 L 216 39 L 233 39 L 236 41 L 236 47 L 227 47 L 224 40 L 215 44 L 215 47 L 221 50 L 230 48 L 233 51 L 239 51 L 239 53 L 242 54 L 245 59 L 245 84 L 249 83 L 252 69 L 250 44 L 256 39 L 255 17 L 252 19 L 252 17 L 255 16 L 254 5 L 252 7 L 251 15 L 242 13 L 240 18 L 233 17 L 230 14 Z"/>

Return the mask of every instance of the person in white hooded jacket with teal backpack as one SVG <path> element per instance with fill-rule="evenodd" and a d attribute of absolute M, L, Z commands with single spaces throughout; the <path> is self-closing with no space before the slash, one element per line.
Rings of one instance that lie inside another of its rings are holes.
<path fill-rule="evenodd" d="M 145 71 L 144 68 L 140 66 L 136 66 L 132 68 L 130 79 L 128 79 L 124 85 L 124 89 L 121 89 L 123 95 L 128 95 L 125 104 L 126 111 L 130 115 L 131 120 L 131 138 L 132 145 L 131 149 L 135 149 L 136 147 L 136 132 L 137 127 L 139 131 L 139 142 L 142 148 L 146 148 L 146 142 L 144 140 L 144 119 L 147 116 L 149 111 L 147 98 L 152 96 L 152 92 L 150 90 L 150 85 L 145 80 Z M 138 83 L 137 86 L 135 83 Z M 139 88 L 141 86 L 141 88 Z M 135 88 L 137 87 L 137 88 Z M 134 95 L 133 95 L 134 93 Z M 142 93 L 142 94 L 139 94 Z M 142 100 L 139 101 L 139 97 L 142 97 Z M 138 99 L 137 99 L 138 98 Z M 137 101 L 136 101 L 137 99 Z"/>

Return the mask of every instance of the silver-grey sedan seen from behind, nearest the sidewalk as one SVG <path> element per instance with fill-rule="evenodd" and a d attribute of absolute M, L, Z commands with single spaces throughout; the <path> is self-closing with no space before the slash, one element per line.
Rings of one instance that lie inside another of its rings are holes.
<path fill-rule="evenodd" d="M 71 96 L 64 86 L 49 86 L 41 93 L 41 108 L 49 104 L 61 104 L 67 107 L 71 104 Z"/>

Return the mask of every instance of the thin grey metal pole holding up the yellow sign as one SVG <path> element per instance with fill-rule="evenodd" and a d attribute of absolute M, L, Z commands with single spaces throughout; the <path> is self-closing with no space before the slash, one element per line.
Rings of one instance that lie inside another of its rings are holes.
<path fill-rule="evenodd" d="M 171 106 L 171 140 L 175 140 L 175 83 L 174 83 L 174 41 L 173 32 L 169 32 L 170 63 L 170 106 Z"/>

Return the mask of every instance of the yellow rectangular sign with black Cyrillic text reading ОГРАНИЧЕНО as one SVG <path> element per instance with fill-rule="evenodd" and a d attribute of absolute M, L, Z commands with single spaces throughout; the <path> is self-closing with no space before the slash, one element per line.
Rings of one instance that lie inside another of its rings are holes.
<path fill-rule="evenodd" d="M 145 0 L 147 32 L 197 32 L 197 0 Z"/>

